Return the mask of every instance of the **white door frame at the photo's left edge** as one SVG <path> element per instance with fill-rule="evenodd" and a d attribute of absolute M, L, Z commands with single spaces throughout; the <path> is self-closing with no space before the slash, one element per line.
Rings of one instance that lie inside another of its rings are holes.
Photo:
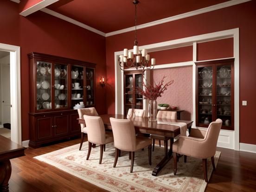
<path fill-rule="evenodd" d="M 0 43 L 0 51 L 10 52 L 11 140 L 21 145 L 20 47 Z"/>

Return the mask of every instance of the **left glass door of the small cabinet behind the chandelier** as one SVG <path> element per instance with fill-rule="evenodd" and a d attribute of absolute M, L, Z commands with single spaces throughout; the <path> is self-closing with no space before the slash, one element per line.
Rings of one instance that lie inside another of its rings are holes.
<path fill-rule="evenodd" d="M 125 115 L 128 113 L 128 109 L 132 108 L 134 104 L 133 90 L 134 90 L 134 79 L 133 74 L 125 74 L 125 88 L 124 88 L 124 104 L 125 104 Z"/>

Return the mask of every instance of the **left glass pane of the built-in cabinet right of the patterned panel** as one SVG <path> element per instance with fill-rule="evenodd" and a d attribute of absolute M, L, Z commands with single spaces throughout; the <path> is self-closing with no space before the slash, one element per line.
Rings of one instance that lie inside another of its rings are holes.
<path fill-rule="evenodd" d="M 198 67 L 198 122 L 212 122 L 212 67 Z"/>

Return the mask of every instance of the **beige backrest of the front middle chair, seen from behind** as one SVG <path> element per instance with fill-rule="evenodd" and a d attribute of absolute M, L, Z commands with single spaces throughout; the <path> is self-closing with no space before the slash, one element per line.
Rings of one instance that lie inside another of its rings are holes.
<path fill-rule="evenodd" d="M 124 151 L 136 150 L 134 124 L 129 119 L 110 118 L 115 147 Z"/>

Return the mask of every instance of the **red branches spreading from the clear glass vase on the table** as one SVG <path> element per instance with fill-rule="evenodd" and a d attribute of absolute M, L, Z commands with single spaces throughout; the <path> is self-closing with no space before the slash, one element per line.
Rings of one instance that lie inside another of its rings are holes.
<path fill-rule="evenodd" d="M 169 81 L 168 83 L 164 84 L 164 79 L 166 76 L 162 78 L 162 80 L 156 84 L 155 82 L 153 84 L 150 84 L 147 82 L 148 85 L 146 85 L 144 82 L 142 83 L 143 87 L 145 87 L 145 90 L 143 88 L 137 87 L 136 90 L 144 96 L 144 99 L 150 99 L 155 100 L 157 97 L 162 96 L 165 90 L 167 90 L 167 87 L 173 84 L 173 80 Z"/>

